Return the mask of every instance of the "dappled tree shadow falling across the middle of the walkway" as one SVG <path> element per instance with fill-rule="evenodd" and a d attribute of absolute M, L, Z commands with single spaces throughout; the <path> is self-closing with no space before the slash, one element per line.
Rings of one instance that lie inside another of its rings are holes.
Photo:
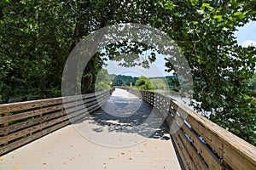
<path fill-rule="evenodd" d="M 134 113 L 132 106 L 140 103 Z M 104 108 L 112 107 L 114 111 L 106 111 Z M 113 105 L 117 109 L 113 109 Z M 119 112 L 128 112 L 127 116 L 119 116 Z M 102 108 L 84 117 L 84 122 L 95 124 L 92 130 L 95 133 L 102 133 L 108 128 L 108 132 L 115 133 L 135 133 L 146 138 L 169 140 L 169 127 L 160 112 L 153 109 L 141 99 L 125 99 L 121 96 L 112 96 Z"/>

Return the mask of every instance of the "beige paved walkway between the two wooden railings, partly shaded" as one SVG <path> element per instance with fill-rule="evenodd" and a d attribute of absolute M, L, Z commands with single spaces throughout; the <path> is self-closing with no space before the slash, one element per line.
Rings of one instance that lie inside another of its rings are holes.
<path fill-rule="evenodd" d="M 116 89 L 81 122 L 63 127 L 3 156 L 2 170 L 180 169 L 160 113 Z"/>

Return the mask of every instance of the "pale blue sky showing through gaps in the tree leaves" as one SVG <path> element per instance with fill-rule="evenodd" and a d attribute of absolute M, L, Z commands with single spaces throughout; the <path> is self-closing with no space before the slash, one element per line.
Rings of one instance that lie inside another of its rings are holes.
<path fill-rule="evenodd" d="M 238 31 L 235 31 L 235 37 L 237 42 L 242 47 L 247 47 L 248 45 L 256 46 L 256 22 L 250 22 L 246 26 L 238 27 Z M 106 69 L 109 74 L 116 75 L 127 75 L 132 77 L 164 77 L 170 76 L 172 73 L 167 73 L 165 71 L 166 61 L 163 55 L 156 56 L 156 60 L 150 66 L 150 69 L 144 69 L 143 67 L 132 67 L 124 68 L 118 65 L 115 61 L 108 60 L 108 66 Z"/>

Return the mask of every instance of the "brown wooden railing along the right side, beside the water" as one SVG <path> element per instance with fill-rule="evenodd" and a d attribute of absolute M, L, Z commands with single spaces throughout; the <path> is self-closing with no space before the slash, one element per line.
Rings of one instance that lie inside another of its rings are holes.
<path fill-rule="evenodd" d="M 256 147 L 206 117 L 154 92 L 123 88 L 167 113 L 172 140 L 185 169 L 256 169 Z"/>

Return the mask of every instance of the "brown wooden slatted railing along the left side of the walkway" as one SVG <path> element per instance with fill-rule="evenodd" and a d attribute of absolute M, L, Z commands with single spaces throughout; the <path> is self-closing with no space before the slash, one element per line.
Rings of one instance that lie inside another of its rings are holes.
<path fill-rule="evenodd" d="M 86 111 L 76 105 L 75 99 L 68 100 L 71 105 L 67 109 L 74 111 L 72 116 L 67 115 L 63 105 L 67 97 L 0 105 L 0 155 L 67 126 L 71 119 L 74 122 L 96 111 L 109 99 L 113 90 L 82 95 Z"/>

